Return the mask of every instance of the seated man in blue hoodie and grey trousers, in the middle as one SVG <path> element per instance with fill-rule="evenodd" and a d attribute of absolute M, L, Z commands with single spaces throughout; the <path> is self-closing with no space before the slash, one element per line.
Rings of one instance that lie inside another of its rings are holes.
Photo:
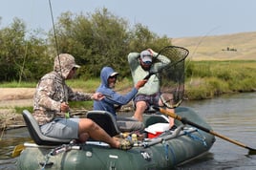
<path fill-rule="evenodd" d="M 118 73 L 111 67 L 104 67 L 100 72 L 101 84 L 96 89 L 97 93 L 105 95 L 101 100 L 94 101 L 94 110 L 108 111 L 117 120 L 117 127 L 121 132 L 141 131 L 144 128 L 142 122 L 132 117 L 117 117 L 116 108 L 129 103 L 138 93 L 140 87 L 144 86 L 147 80 L 140 80 L 135 87 L 125 95 L 117 94 L 114 91 Z"/>

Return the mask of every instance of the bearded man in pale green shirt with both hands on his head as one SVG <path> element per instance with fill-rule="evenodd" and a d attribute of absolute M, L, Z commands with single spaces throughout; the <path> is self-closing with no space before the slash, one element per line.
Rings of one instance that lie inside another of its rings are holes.
<path fill-rule="evenodd" d="M 134 98 L 136 111 L 134 118 L 143 121 L 142 114 L 151 105 L 163 106 L 160 99 L 160 72 L 171 62 L 166 56 L 147 49 L 141 53 L 129 53 L 128 62 L 133 76 L 134 84 L 140 79 L 147 78 L 147 83 L 139 89 Z M 174 113 L 174 109 L 167 108 Z M 175 129 L 174 118 L 169 117 L 170 128 Z"/>

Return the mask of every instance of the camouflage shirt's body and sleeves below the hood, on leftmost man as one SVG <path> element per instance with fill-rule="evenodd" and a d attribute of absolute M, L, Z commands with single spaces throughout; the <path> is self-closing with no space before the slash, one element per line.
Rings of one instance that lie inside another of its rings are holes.
<path fill-rule="evenodd" d="M 39 125 L 50 122 L 54 117 L 64 117 L 65 114 L 60 112 L 60 104 L 72 100 L 92 100 L 92 94 L 74 92 L 57 72 L 45 74 L 36 86 L 33 117 Z"/>

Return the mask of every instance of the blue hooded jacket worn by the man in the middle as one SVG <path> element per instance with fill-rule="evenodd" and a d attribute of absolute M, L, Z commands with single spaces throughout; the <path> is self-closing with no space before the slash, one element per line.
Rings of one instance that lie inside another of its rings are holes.
<path fill-rule="evenodd" d="M 132 91 L 126 95 L 119 95 L 113 89 L 109 88 L 108 78 L 115 71 L 111 67 L 104 67 L 100 72 L 101 84 L 96 89 L 96 92 L 106 95 L 103 99 L 94 100 L 94 110 L 108 111 L 115 117 L 117 117 L 115 105 L 121 106 L 130 102 L 134 96 L 138 93 L 138 90 L 134 87 Z"/>

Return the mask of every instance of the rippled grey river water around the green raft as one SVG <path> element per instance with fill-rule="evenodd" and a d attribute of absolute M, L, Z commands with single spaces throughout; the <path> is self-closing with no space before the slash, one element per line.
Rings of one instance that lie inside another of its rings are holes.
<path fill-rule="evenodd" d="M 214 99 L 183 102 L 203 117 L 213 130 L 232 140 L 256 148 L 256 93 L 221 96 Z M 14 146 L 30 140 L 26 128 L 10 130 L 0 141 L 0 169 L 16 169 L 16 159 L 11 158 Z M 189 161 L 177 170 L 256 170 L 256 155 L 222 138 L 200 159 Z"/>

